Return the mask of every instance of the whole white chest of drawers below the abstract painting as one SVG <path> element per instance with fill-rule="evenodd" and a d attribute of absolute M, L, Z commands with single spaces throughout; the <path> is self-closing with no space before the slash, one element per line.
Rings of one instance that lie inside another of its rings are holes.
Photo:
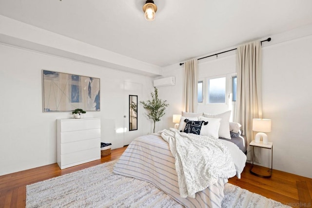
<path fill-rule="evenodd" d="M 60 169 L 101 158 L 100 118 L 57 119 L 57 151 Z"/>

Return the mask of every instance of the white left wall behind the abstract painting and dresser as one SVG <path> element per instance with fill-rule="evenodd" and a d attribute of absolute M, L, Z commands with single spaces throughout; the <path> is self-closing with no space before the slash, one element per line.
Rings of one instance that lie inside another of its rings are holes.
<path fill-rule="evenodd" d="M 100 78 L 100 112 L 84 116 L 101 118 L 101 140 L 112 149 L 123 146 L 123 133 L 115 132 L 124 124 L 123 82 L 141 83 L 144 100 L 153 91 L 147 76 L 2 44 L 0 66 L 0 175 L 57 161 L 56 119 L 70 118 L 71 112 L 42 112 L 42 69 Z M 151 132 L 150 120 L 140 118 L 142 133 Z"/>

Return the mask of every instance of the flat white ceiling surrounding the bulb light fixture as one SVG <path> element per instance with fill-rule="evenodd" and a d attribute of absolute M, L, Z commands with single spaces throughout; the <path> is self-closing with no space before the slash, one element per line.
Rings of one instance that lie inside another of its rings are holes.
<path fill-rule="evenodd" d="M 312 0 L 0 0 L 0 15 L 165 67 L 312 24 Z"/>

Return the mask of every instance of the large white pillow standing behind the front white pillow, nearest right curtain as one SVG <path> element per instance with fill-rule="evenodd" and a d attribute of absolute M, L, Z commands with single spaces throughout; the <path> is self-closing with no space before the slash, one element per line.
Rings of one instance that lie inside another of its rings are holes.
<path fill-rule="evenodd" d="M 226 139 L 231 139 L 230 116 L 231 116 L 231 111 L 227 111 L 227 112 L 219 113 L 219 114 L 204 113 L 204 117 L 222 119 L 220 122 L 219 137 L 226 138 Z"/>

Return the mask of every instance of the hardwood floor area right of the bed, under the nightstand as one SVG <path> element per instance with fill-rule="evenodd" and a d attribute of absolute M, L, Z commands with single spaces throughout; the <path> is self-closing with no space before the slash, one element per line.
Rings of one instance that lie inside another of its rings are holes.
<path fill-rule="evenodd" d="M 249 172 L 251 164 L 247 163 L 241 174 L 241 179 L 233 177 L 229 183 L 261 194 L 267 198 L 279 201 L 291 207 L 312 208 L 312 179 L 291 173 L 273 170 L 271 178 L 257 177 Z M 257 172 L 265 172 L 268 169 L 255 166 Z"/>

